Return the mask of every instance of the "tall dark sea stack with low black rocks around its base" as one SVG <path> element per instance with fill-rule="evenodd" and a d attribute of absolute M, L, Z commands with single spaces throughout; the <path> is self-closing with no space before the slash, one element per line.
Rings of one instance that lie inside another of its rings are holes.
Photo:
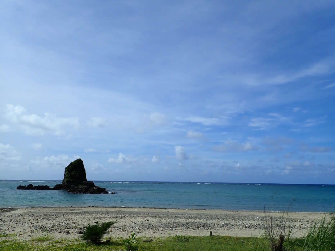
<path fill-rule="evenodd" d="M 81 159 L 71 162 L 64 172 L 64 179 L 62 184 L 57 184 L 54 187 L 34 186 L 29 184 L 27 186 L 18 186 L 16 189 L 23 190 L 68 190 L 69 193 L 108 193 L 106 188 L 94 185 L 93 181 L 87 181 L 84 163 Z"/>

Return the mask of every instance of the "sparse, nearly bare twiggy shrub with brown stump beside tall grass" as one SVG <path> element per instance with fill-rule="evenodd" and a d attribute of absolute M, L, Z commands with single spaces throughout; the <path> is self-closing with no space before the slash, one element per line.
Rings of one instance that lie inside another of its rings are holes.
<path fill-rule="evenodd" d="M 275 195 L 275 193 L 274 193 Z M 289 243 L 292 234 L 293 226 L 288 226 L 288 213 L 290 211 L 291 199 L 288 203 L 287 210 L 281 211 L 279 217 L 273 215 L 273 196 L 271 197 L 271 208 L 269 211 L 265 210 L 264 206 L 264 219 L 265 219 L 265 234 L 264 238 L 267 239 L 271 245 L 272 251 L 282 251 L 284 239 L 286 238 Z"/>

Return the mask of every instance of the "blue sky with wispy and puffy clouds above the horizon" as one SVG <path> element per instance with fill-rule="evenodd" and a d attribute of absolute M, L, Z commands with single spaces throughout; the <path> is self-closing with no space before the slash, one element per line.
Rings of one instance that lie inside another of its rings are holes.
<path fill-rule="evenodd" d="M 335 184 L 335 2 L 0 3 L 0 179 Z"/>

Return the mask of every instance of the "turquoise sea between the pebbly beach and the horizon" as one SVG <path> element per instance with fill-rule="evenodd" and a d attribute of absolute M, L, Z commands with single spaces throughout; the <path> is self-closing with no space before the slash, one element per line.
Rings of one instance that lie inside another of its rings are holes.
<path fill-rule="evenodd" d="M 0 181 L 0 207 L 107 206 L 189 209 L 334 212 L 335 185 L 192 182 L 94 181 L 115 194 L 71 194 L 66 191 L 16 190 L 18 185 L 62 181 Z"/>

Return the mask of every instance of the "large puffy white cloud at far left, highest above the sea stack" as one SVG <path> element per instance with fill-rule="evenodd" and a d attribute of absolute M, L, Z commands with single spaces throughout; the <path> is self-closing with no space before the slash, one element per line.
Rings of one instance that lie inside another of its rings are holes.
<path fill-rule="evenodd" d="M 20 125 L 27 134 L 43 135 L 46 132 L 52 132 L 56 135 L 64 134 L 63 127 L 79 127 L 78 118 L 59 118 L 51 113 L 44 113 L 44 117 L 36 114 L 26 115 L 26 110 L 20 106 L 7 105 L 6 118 Z"/>

